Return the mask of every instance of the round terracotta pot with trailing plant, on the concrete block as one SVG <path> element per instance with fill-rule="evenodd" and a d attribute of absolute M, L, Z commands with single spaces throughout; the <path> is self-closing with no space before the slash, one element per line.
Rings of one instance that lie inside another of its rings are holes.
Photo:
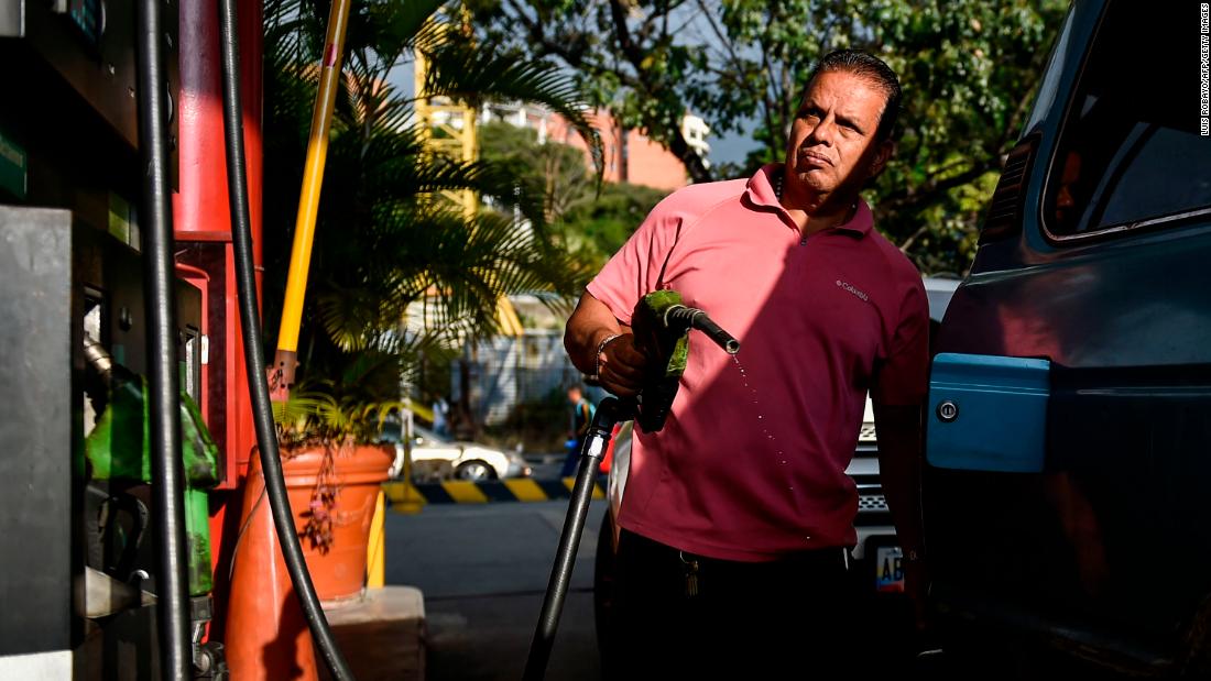
<path fill-rule="evenodd" d="M 308 523 L 304 513 L 310 508 L 323 449 L 282 454 L 282 473 L 294 514 L 294 529 L 300 532 Z M 323 554 L 312 548 L 310 541 L 302 539 L 308 570 L 322 601 L 356 598 L 362 591 L 374 502 L 395 461 L 395 450 L 391 445 L 358 445 L 337 450 L 333 456 L 340 492 L 332 509 L 332 548 Z"/>

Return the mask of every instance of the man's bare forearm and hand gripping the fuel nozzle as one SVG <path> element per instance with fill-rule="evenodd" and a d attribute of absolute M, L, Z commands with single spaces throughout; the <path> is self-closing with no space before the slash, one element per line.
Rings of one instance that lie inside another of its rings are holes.
<path fill-rule="evenodd" d="M 584 374 L 596 376 L 618 397 L 635 397 L 643 387 L 648 358 L 635 346 L 631 328 L 619 323 L 606 304 L 580 296 L 563 335 L 568 357 Z"/>

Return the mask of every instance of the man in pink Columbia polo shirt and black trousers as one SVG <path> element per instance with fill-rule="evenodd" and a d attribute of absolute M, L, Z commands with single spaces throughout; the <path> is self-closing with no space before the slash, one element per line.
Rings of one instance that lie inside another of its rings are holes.
<path fill-rule="evenodd" d="M 679 292 L 741 342 L 733 359 L 691 333 L 668 421 L 633 442 L 607 660 L 622 676 L 840 673 L 861 636 L 845 625 L 857 512 L 845 467 L 867 391 L 908 589 L 924 588 L 928 304 L 859 197 L 891 155 L 899 103 L 882 60 L 825 57 L 785 163 L 662 201 L 568 321 L 573 362 L 618 396 L 648 369 L 629 324 L 652 290 Z"/>

